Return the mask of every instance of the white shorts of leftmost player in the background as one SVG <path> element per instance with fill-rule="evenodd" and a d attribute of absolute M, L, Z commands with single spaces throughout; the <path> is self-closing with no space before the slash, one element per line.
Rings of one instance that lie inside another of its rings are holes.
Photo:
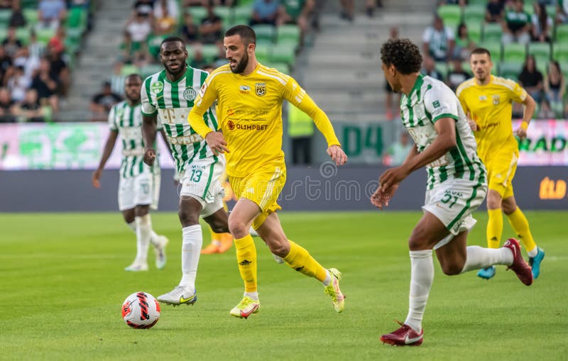
<path fill-rule="evenodd" d="M 134 177 L 122 178 L 119 182 L 119 210 L 133 209 L 136 206 L 150 206 L 158 209 L 160 200 L 160 173 L 142 173 Z"/>

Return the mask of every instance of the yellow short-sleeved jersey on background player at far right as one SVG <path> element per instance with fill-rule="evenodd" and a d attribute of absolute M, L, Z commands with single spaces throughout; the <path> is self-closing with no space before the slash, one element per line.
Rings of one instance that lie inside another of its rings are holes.
<path fill-rule="evenodd" d="M 513 80 L 491 75 L 486 85 L 477 84 L 475 78 L 466 80 L 459 85 L 456 95 L 464 112 L 477 124 L 474 135 L 482 161 L 502 150 L 518 150 L 511 123 L 512 102 L 525 101 L 525 89 Z"/>

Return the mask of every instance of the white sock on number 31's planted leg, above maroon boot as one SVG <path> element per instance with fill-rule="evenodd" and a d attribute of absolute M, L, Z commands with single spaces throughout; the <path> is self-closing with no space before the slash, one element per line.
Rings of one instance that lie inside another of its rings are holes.
<path fill-rule="evenodd" d="M 408 316 L 404 322 L 414 331 L 422 331 L 422 316 L 434 281 L 432 250 L 411 250 L 410 252 L 410 297 Z"/>

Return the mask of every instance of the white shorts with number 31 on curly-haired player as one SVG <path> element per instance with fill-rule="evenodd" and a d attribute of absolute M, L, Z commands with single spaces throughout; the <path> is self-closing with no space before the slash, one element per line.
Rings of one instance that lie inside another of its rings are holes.
<path fill-rule="evenodd" d="M 422 211 L 436 216 L 450 233 L 435 245 L 435 250 L 449 243 L 458 233 L 470 231 L 474 227 L 477 221 L 471 213 L 481 205 L 486 194 L 486 182 L 464 179 L 447 179 L 446 182 L 426 191 Z"/>

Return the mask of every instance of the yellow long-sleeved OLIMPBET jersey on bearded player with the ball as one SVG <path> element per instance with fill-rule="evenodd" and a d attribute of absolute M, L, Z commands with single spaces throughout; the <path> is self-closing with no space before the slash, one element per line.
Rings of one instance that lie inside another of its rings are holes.
<path fill-rule="evenodd" d="M 287 100 L 312 119 L 327 140 L 339 145 L 332 123 L 292 77 L 258 64 L 248 75 L 234 74 L 229 65 L 214 70 L 197 94 L 188 116 L 203 138 L 211 132 L 203 113 L 217 99 L 219 128 L 227 143 L 227 172 L 245 177 L 261 167 L 285 169 L 282 150 L 282 102 Z"/>

